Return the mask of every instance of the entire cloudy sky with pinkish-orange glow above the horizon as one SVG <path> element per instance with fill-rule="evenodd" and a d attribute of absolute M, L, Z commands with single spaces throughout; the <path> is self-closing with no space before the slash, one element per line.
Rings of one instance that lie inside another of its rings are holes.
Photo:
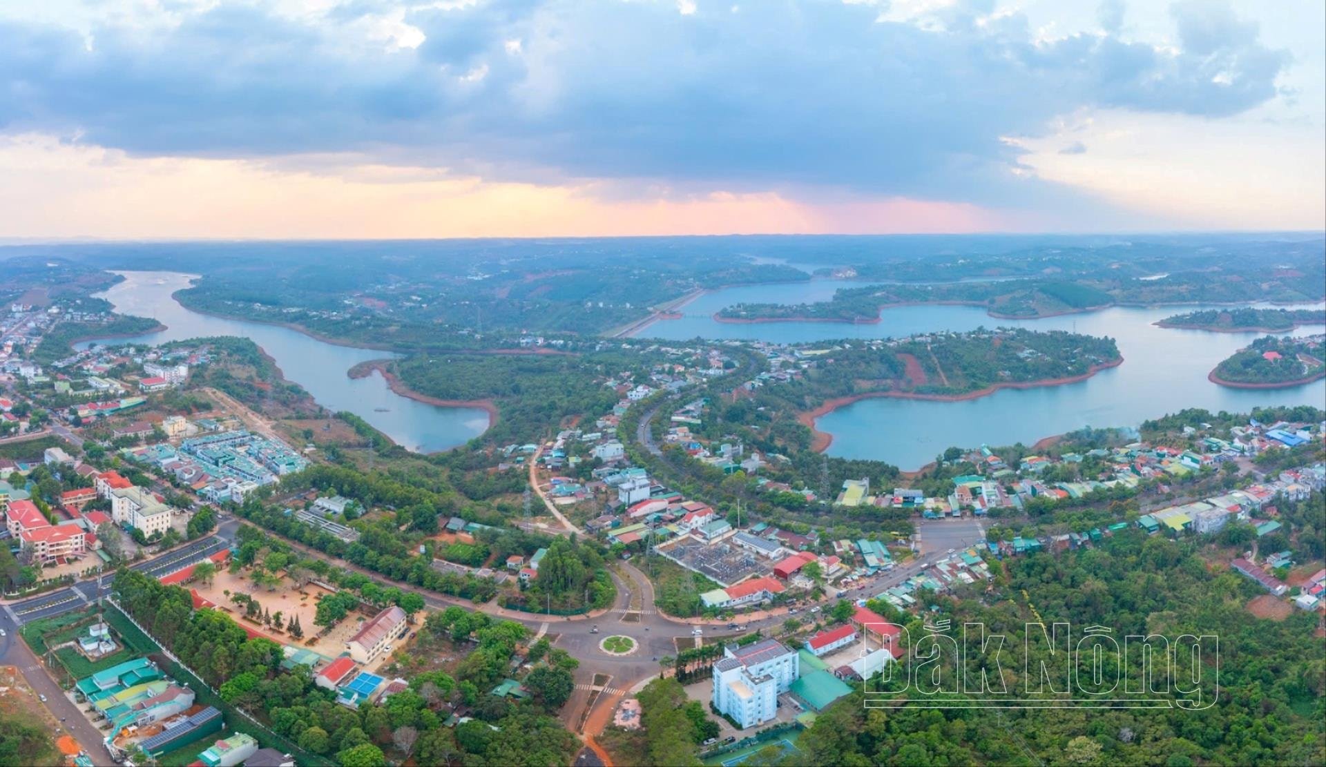
<path fill-rule="evenodd" d="M 7 0 L 0 238 L 1326 229 L 1321 0 Z"/>

